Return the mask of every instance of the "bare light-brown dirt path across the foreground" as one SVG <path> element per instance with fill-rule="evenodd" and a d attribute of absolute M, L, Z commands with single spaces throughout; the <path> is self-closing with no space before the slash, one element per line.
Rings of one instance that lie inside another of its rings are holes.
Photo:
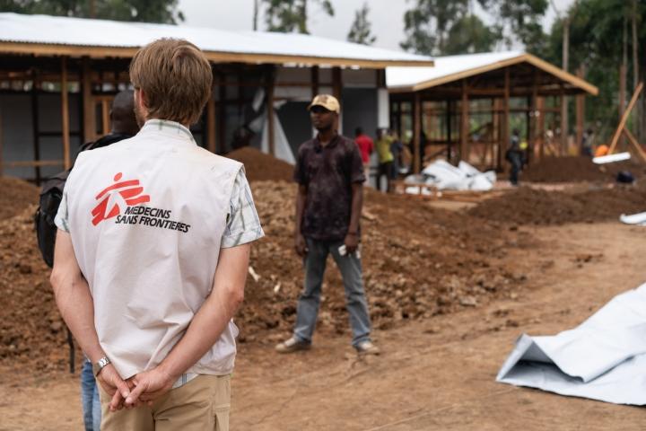
<path fill-rule="evenodd" d="M 378 331 L 380 357 L 357 360 L 346 338 L 315 338 L 312 350 L 293 356 L 275 355 L 268 343 L 243 345 L 231 429 L 642 429 L 643 409 L 494 382 L 521 332 L 572 328 L 646 279 L 643 228 L 572 224 L 530 232 L 543 246 L 506 258 L 528 274 L 519 295 Z M 80 429 L 75 378 L 22 386 L 15 378 L 5 383 L 5 375 L 0 430 Z"/>

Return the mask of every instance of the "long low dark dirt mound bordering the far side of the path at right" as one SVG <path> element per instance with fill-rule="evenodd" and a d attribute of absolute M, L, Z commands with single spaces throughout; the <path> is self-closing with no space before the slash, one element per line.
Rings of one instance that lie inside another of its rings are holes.
<path fill-rule="evenodd" d="M 511 224 L 566 224 L 617 220 L 646 211 L 646 187 L 611 184 L 599 188 L 546 191 L 520 187 L 471 208 L 471 216 Z"/>

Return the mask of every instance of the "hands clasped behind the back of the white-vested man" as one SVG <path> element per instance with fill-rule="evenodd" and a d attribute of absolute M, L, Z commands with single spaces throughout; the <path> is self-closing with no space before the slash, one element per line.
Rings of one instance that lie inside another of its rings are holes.
<path fill-rule="evenodd" d="M 177 378 L 156 367 L 123 380 L 114 365 L 109 364 L 101 369 L 97 382 L 112 397 L 109 410 L 117 411 L 144 404 L 152 406 L 154 400 L 170 391 Z"/>

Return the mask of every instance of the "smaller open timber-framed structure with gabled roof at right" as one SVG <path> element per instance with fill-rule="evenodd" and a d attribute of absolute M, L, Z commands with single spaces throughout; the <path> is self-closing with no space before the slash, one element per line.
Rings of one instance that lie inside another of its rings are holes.
<path fill-rule="evenodd" d="M 565 154 L 567 133 L 558 134 L 558 145 L 550 145 L 546 118 L 553 118 L 550 130 L 567 130 L 561 115 L 567 96 L 576 96 L 576 142 L 581 142 L 584 97 L 597 95 L 595 86 L 530 54 L 475 67 L 468 66 L 469 56 L 460 57 L 467 63 L 463 70 L 439 76 L 442 57 L 436 57 L 434 76 L 428 80 L 393 86 L 388 76 L 390 125 L 400 136 L 411 137 L 415 172 L 423 167 L 424 152 L 427 158 L 445 154 L 450 161 L 501 171 L 514 115 L 524 117 L 521 134 L 527 138 L 530 157 L 543 157 L 547 151 Z M 483 116 L 485 125 L 471 128 L 471 120 Z"/>

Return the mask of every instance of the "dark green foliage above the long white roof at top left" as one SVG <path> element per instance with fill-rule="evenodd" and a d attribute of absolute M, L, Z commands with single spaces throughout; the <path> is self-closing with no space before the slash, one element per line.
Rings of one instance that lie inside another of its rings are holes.
<path fill-rule="evenodd" d="M 100 18 L 116 21 L 184 21 L 179 0 L 0 0 L 0 10 L 18 13 Z"/>

